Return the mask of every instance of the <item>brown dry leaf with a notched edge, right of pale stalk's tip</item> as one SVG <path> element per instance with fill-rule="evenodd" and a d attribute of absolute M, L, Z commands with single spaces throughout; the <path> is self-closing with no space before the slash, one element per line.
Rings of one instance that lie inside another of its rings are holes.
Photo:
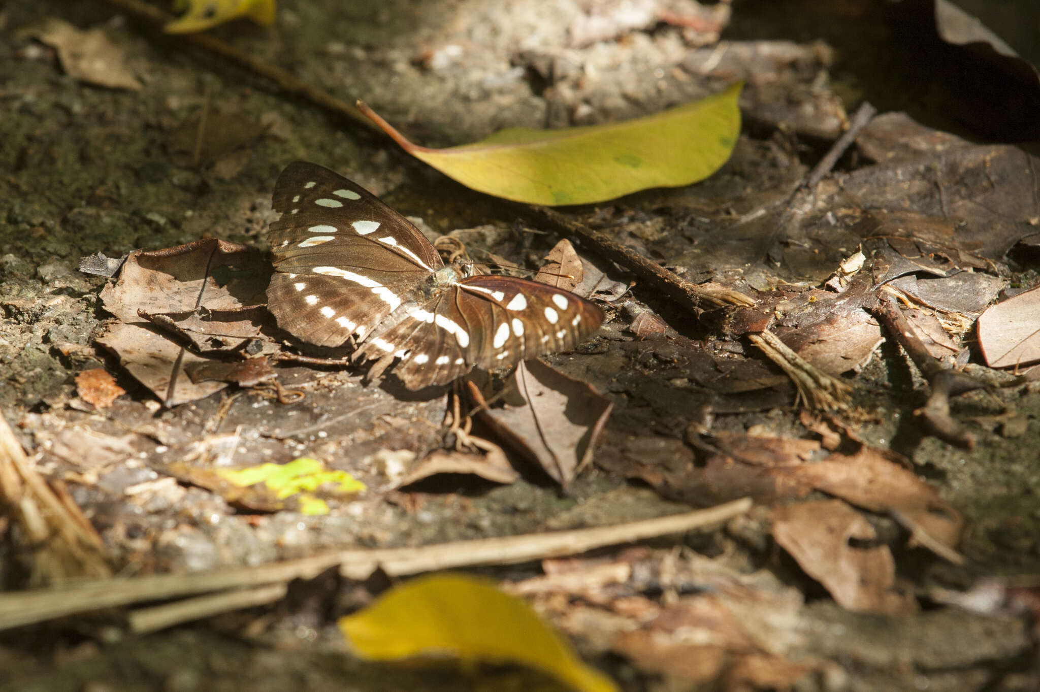
<path fill-rule="evenodd" d="M 895 615 L 917 610 L 912 593 L 895 587 L 887 545 L 853 545 L 877 538 L 874 527 L 840 500 L 803 502 L 773 510 L 773 537 L 842 608 Z"/>

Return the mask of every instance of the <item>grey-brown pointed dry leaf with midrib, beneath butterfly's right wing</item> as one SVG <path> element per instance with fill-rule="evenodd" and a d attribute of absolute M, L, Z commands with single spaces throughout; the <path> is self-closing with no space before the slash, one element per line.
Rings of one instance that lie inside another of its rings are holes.
<path fill-rule="evenodd" d="M 614 406 L 588 383 L 540 361 L 517 366 L 501 408 L 488 408 L 479 390 L 467 384 L 482 407 L 479 419 L 564 487 L 592 459 Z"/>

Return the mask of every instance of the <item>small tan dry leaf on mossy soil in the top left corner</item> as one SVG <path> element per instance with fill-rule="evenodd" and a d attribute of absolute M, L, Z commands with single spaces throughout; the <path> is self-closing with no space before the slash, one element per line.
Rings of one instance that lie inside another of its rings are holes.
<path fill-rule="evenodd" d="M 123 49 L 102 29 L 82 31 L 59 19 L 49 19 L 29 32 L 54 48 L 61 66 L 73 79 L 113 89 L 139 91 L 141 83 L 126 64 Z"/>

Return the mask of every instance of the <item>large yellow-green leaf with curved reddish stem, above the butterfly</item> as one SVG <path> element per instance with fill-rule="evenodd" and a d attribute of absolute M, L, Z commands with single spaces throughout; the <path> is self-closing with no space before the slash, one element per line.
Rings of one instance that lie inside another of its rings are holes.
<path fill-rule="evenodd" d="M 405 151 L 467 187 L 528 204 L 577 205 L 688 185 L 718 170 L 740 131 L 740 86 L 623 123 L 514 128 L 449 149 L 413 144 L 365 104 L 358 108 Z"/>

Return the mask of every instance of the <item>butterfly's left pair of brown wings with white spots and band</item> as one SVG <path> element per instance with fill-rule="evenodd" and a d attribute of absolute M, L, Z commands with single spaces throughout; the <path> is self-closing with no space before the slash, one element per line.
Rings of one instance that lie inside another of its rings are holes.
<path fill-rule="evenodd" d="M 268 307 L 291 335 L 318 346 L 364 339 L 417 297 L 442 266 L 430 241 L 361 186 L 297 161 L 278 179 L 270 240 L 278 270 Z"/>

